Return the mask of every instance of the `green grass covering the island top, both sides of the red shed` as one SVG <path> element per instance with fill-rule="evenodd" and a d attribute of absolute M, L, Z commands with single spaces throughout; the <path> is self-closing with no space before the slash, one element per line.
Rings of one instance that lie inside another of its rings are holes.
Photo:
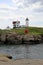
<path fill-rule="evenodd" d="M 18 28 L 18 29 L 11 29 L 11 30 L 0 30 L 0 34 L 10 33 L 10 32 L 16 32 L 18 34 L 25 34 L 26 28 Z M 37 27 L 28 27 L 30 34 L 43 34 L 43 28 L 37 28 Z"/>

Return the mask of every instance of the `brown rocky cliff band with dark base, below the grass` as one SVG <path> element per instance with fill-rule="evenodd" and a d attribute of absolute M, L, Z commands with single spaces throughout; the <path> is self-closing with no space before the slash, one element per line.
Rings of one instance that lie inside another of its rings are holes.
<path fill-rule="evenodd" d="M 19 45 L 19 44 L 38 44 L 43 43 L 43 34 L 17 34 L 17 33 L 7 33 L 0 34 L 0 44 L 7 45 Z"/>

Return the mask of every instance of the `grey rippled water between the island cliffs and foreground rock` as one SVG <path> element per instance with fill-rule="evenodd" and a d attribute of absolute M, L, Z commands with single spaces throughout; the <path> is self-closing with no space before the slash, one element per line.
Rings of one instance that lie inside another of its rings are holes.
<path fill-rule="evenodd" d="M 4 45 L 0 53 L 9 54 L 13 59 L 43 59 L 43 44 L 37 45 Z"/>

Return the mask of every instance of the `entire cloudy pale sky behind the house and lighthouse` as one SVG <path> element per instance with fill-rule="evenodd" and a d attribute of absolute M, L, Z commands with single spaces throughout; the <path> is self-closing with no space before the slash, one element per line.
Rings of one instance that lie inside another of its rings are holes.
<path fill-rule="evenodd" d="M 0 29 L 13 27 L 13 21 L 20 21 L 20 25 L 43 27 L 43 0 L 0 0 Z"/>

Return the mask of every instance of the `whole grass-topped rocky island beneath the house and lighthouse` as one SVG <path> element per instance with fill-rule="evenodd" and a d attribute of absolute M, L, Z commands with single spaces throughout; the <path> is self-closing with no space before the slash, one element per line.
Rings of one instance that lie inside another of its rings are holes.
<path fill-rule="evenodd" d="M 43 43 L 43 28 L 29 27 L 0 30 L 0 44 L 38 44 Z M 25 33 L 25 32 L 26 33 Z"/>

